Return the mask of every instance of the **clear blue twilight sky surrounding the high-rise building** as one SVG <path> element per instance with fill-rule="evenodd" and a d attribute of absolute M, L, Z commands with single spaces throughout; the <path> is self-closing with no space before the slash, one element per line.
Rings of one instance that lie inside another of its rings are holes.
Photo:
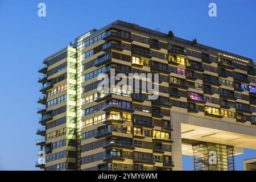
<path fill-rule="evenodd" d="M 40 2 L 46 3 L 45 18 L 38 16 Z M 208 16 L 210 2 L 217 4 L 216 18 Z M 255 9 L 255 0 L 0 0 L 0 169 L 36 170 L 38 66 L 77 36 L 120 19 L 256 60 Z M 254 157 L 255 151 L 245 150 L 236 169 Z M 191 157 L 184 157 L 184 169 L 192 169 Z"/>

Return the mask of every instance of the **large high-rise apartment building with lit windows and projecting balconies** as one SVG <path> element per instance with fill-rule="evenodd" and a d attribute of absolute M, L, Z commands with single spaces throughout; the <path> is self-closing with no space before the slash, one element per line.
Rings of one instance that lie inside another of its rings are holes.
<path fill-rule="evenodd" d="M 36 144 L 46 163 L 36 167 L 171 171 L 189 155 L 195 170 L 234 170 L 234 155 L 256 149 L 255 68 L 247 57 L 121 20 L 86 32 L 39 68 Z M 98 93 L 97 76 L 110 69 L 159 73 L 158 99 L 134 86 Z"/>

